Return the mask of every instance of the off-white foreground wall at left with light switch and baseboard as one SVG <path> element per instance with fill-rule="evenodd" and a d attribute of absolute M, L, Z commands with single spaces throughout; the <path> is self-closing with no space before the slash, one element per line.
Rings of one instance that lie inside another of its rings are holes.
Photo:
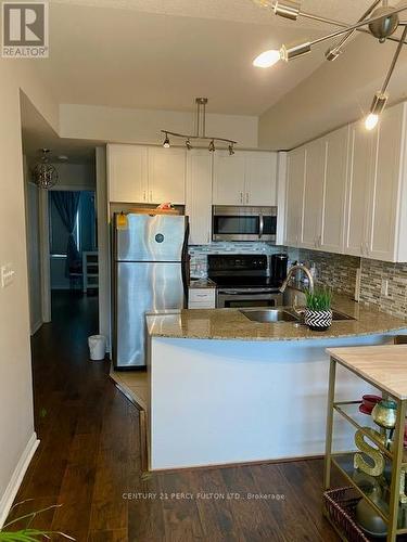
<path fill-rule="evenodd" d="M 0 59 L 0 266 L 15 270 L 14 282 L 0 288 L 0 525 L 36 447 L 20 89 L 54 129 L 59 113 L 35 65 Z"/>

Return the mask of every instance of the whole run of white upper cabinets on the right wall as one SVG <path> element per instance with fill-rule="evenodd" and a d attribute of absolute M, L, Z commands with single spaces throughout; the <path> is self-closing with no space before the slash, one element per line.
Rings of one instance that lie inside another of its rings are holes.
<path fill-rule="evenodd" d="M 289 246 L 407 261 L 406 116 L 402 103 L 376 130 L 359 121 L 289 153 Z"/>

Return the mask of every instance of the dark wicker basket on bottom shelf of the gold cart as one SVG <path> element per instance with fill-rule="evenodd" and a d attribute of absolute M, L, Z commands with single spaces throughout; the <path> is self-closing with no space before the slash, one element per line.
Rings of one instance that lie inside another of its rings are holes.
<path fill-rule="evenodd" d="M 355 511 L 360 495 L 354 488 L 331 489 L 323 493 L 323 500 L 329 517 L 348 542 L 370 541 L 355 522 Z"/>

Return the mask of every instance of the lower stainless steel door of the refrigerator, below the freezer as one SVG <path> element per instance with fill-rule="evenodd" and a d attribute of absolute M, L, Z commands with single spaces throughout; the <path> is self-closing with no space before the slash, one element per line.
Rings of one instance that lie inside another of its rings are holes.
<path fill-rule="evenodd" d="M 181 263 L 116 263 L 115 366 L 145 365 L 145 312 L 183 305 Z"/>

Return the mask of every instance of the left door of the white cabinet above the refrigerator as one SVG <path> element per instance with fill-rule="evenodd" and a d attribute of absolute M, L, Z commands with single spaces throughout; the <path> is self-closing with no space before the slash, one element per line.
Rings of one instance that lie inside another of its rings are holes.
<path fill-rule="evenodd" d="M 147 147 L 107 145 L 110 202 L 147 202 Z"/>

